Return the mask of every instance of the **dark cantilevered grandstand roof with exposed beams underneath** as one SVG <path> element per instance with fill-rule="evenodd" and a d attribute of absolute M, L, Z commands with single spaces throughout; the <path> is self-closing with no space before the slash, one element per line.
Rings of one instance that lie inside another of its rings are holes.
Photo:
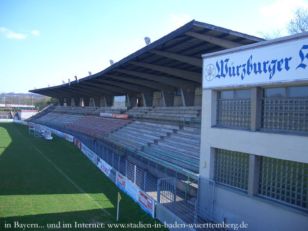
<path fill-rule="evenodd" d="M 55 98 L 135 95 L 202 82 L 202 54 L 264 41 L 192 20 L 91 76 L 29 92 Z"/>

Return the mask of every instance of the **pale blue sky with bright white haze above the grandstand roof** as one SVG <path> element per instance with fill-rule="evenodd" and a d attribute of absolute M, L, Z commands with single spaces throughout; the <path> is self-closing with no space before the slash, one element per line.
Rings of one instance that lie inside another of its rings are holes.
<path fill-rule="evenodd" d="M 308 0 L 0 0 L 0 92 L 27 93 L 107 68 L 195 19 L 248 35 L 284 30 Z"/>

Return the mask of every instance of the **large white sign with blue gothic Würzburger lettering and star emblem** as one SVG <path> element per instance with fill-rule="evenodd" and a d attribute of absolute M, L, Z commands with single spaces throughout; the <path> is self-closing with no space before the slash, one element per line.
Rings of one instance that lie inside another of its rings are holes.
<path fill-rule="evenodd" d="M 203 89 L 308 80 L 308 38 L 203 57 Z"/>

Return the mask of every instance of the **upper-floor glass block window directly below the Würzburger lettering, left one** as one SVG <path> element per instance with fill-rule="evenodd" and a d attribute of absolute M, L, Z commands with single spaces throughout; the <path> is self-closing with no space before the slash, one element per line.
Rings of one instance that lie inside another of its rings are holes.
<path fill-rule="evenodd" d="M 250 128 L 250 90 L 218 92 L 216 125 Z"/>

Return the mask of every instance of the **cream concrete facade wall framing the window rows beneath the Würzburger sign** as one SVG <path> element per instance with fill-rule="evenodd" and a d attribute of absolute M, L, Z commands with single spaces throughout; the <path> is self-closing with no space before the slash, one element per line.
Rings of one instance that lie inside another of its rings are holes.
<path fill-rule="evenodd" d="M 215 148 L 258 156 L 308 163 L 306 136 L 213 127 L 216 123 L 216 91 L 204 90 L 200 175 L 213 180 Z M 206 162 L 205 167 L 203 163 Z M 308 217 L 291 207 L 246 192 L 216 186 L 215 213 L 228 223 L 248 224 L 244 230 L 305 230 Z"/>

